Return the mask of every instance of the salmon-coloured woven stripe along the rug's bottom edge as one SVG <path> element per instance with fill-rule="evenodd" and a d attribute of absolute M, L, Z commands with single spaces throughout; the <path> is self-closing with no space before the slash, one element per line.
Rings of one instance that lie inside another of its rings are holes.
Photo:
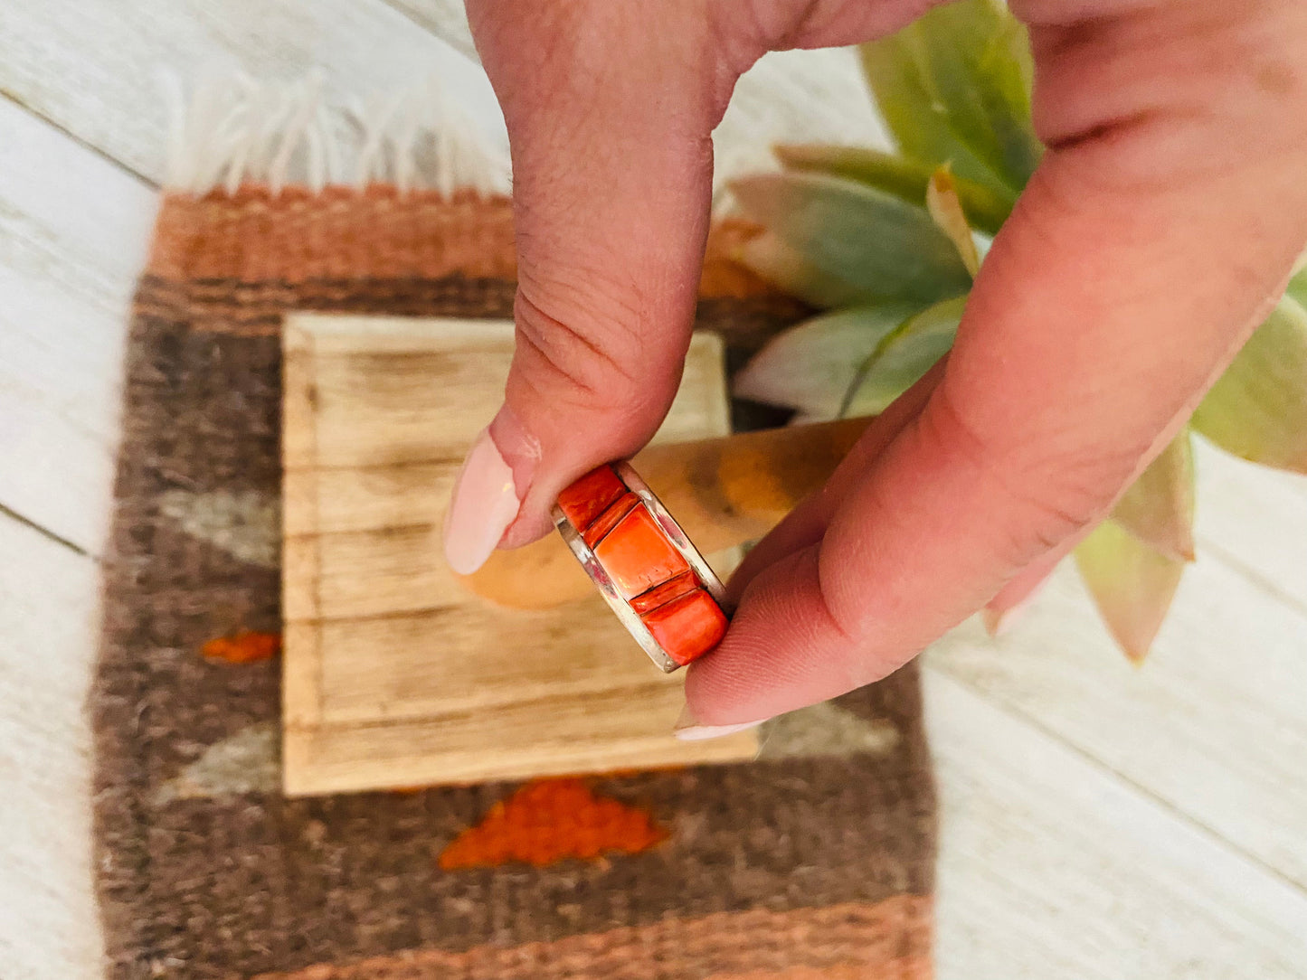
<path fill-rule="evenodd" d="M 723 912 L 555 942 L 405 950 L 255 980 L 918 980 L 929 976 L 929 903 L 910 895 L 876 906 Z"/>

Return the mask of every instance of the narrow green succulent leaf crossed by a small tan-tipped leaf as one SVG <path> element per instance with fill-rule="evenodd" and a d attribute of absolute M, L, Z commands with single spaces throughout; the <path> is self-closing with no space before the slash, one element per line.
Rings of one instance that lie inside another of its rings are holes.
<path fill-rule="evenodd" d="M 775 153 L 791 170 L 810 170 L 857 180 L 923 208 L 931 175 L 937 166 L 864 146 L 784 144 L 776 146 Z M 1002 222 L 1012 214 L 1017 196 L 1006 187 L 992 187 L 957 174 L 953 175 L 953 184 L 971 226 L 987 235 L 999 234 Z"/>

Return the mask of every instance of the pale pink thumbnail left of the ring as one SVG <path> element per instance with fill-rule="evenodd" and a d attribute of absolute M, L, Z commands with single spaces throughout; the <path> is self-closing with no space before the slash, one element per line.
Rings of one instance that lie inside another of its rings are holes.
<path fill-rule="evenodd" d="M 450 567 L 471 575 L 485 564 L 520 507 L 512 469 L 490 430 L 482 430 L 463 461 L 444 515 L 444 559 Z"/>

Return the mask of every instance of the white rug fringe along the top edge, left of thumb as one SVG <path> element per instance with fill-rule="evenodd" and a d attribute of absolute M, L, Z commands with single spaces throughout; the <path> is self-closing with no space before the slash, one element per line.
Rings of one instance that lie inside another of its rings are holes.
<path fill-rule="evenodd" d="M 344 106 L 328 103 L 324 82 L 322 72 L 293 82 L 230 72 L 204 78 L 187 98 L 180 78 L 162 73 L 165 187 L 234 193 L 259 182 L 280 193 L 297 183 L 314 192 L 389 183 L 401 192 L 508 193 L 507 149 L 454 103 L 438 74 Z"/>

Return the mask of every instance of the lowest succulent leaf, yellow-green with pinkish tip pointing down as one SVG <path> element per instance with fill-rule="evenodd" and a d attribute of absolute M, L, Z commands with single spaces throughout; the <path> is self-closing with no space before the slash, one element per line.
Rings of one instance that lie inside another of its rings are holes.
<path fill-rule="evenodd" d="M 1080 542 L 1076 564 L 1112 639 L 1131 660 L 1144 660 L 1175 598 L 1184 562 L 1108 519 Z"/>

